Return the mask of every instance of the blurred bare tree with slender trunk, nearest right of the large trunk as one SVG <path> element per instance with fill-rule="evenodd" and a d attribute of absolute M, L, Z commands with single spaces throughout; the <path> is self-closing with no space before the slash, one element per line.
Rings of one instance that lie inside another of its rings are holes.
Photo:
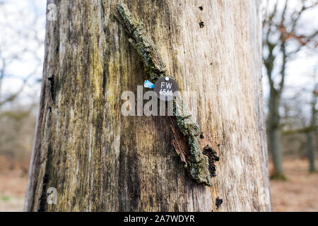
<path fill-rule="evenodd" d="M 268 17 L 264 19 L 263 59 L 269 81 L 269 104 L 266 126 L 268 130 L 269 149 L 271 151 L 274 172 L 272 177 L 285 179 L 281 153 L 281 99 L 288 76 L 289 63 L 298 57 L 303 49 L 317 52 L 317 30 L 306 29 L 300 23 L 302 16 L 317 7 L 317 1 L 268 1 Z M 293 5 L 292 5 L 293 4 Z M 302 103 L 302 106 L 304 103 Z M 294 105 L 295 106 L 295 105 Z M 286 107 L 286 106 L 285 106 Z M 299 105 L 297 107 L 300 107 Z M 315 105 L 312 107 L 315 109 Z M 314 112 L 312 114 L 315 114 Z M 293 122 L 293 124 L 295 124 Z M 315 119 L 312 117 L 312 124 Z M 313 131 L 311 129 L 310 131 Z M 300 131 L 298 131 L 300 132 Z M 309 133 L 308 133 L 309 134 Z M 310 133 L 312 134 L 312 132 Z M 312 138 L 307 139 L 312 145 Z M 310 153 L 314 148 L 308 148 Z M 313 155 L 312 156 L 313 159 Z"/>

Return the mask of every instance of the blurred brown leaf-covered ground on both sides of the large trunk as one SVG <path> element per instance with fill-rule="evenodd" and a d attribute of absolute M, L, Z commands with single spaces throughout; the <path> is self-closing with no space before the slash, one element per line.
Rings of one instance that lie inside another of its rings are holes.
<path fill-rule="evenodd" d="M 271 180 L 273 211 L 318 211 L 318 173 L 307 172 L 307 160 L 285 160 L 283 167 L 287 180 Z M 25 171 L 0 159 L 0 212 L 23 210 L 27 182 Z"/>

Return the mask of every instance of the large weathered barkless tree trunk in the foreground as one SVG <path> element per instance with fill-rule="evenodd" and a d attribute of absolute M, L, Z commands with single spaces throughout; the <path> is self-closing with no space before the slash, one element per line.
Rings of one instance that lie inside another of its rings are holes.
<path fill-rule="evenodd" d="M 169 117 L 121 114 L 122 92 L 137 93 L 147 75 L 114 18 L 116 2 L 57 1 L 25 210 L 271 210 L 259 1 L 125 2 L 179 90 L 196 91 L 200 144 L 220 158 L 213 186 L 184 169 Z"/>

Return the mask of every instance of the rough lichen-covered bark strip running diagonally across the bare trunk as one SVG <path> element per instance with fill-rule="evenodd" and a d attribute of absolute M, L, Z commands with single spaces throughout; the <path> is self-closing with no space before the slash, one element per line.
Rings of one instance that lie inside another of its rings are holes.
<path fill-rule="evenodd" d="M 136 48 L 143 60 L 144 68 L 148 72 L 151 82 L 155 83 L 162 76 L 169 76 L 165 69 L 163 58 L 158 52 L 150 35 L 139 20 L 131 14 L 124 4 L 118 4 L 114 11 L 116 18 L 124 25 L 129 34 L 129 42 Z M 170 76 L 173 77 L 173 76 Z M 212 186 L 212 177 L 209 170 L 208 157 L 201 150 L 199 144 L 200 126 L 196 123 L 189 111 L 187 102 L 181 95 L 173 101 L 172 131 L 175 140 L 172 142 L 184 167 L 199 184 Z"/>

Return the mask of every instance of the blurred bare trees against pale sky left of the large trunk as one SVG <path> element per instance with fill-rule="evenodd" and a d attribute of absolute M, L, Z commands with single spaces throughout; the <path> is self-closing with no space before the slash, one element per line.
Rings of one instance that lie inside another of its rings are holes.
<path fill-rule="evenodd" d="M 44 54 L 45 12 L 40 5 L 39 1 L 0 1 L 0 157 L 25 172 Z"/>

